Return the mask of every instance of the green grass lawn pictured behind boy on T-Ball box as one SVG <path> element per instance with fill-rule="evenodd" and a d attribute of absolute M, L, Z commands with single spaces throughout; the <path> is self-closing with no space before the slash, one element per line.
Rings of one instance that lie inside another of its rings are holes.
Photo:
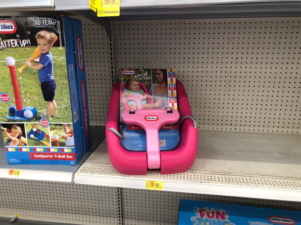
<path fill-rule="evenodd" d="M 23 66 L 26 59 L 31 56 L 35 49 L 36 47 L 15 47 L 0 50 L 0 93 L 7 92 L 11 96 L 11 101 L 9 103 L 0 101 L 0 122 L 16 122 L 16 120 L 5 118 L 5 116 L 8 115 L 9 106 L 15 105 L 11 76 L 5 58 L 7 56 L 12 56 L 16 60 L 15 65 L 17 70 Z M 50 52 L 53 55 L 53 76 L 57 85 L 54 99 L 58 107 L 57 116 L 52 118 L 50 122 L 69 123 L 72 122 L 72 116 L 65 50 L 53 47 Z M 21 80 L 19 79 L 19 86 L 23 106 L 36 107 L 38 114 L 45 113 L 47 110 L 47 103 L 44 101 L 40 88 L 38 71 L 26 67 L 22 73 L 16 73 L 18 79 L 20 77 L 22 78 Z M 25 102 L 23 99 L 25 99 Z M 35 116 L 30 122 L 39 122 L 39 117 Z"/>

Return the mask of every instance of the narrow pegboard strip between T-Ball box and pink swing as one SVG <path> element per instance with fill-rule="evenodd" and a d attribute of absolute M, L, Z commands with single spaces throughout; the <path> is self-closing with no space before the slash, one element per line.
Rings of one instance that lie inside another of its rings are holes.
<path fill-rule="evenodd" d="M 88 20 L 82 21 L 82 32 L 90 124 L 105 125 L 112 88 L 110 40 L 104 28 Z"/>

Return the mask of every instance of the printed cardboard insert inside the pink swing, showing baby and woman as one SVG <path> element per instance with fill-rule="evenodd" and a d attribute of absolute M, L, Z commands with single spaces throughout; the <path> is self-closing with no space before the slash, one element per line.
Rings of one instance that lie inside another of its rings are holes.
<path fill-rule="evenodd" d="M 175 70 L 173 69 L 121 69 L 120 121 L 124 110 L 178 109 Z M 123 126 L 123 125 L 121 125 Z M 146 134 L 138 125 L 121 127 L 125 149 L 146 151 Z M 159 130 L 160 150 L 175 148 L 179 142 L 177 125 L 164 125 Z"/>

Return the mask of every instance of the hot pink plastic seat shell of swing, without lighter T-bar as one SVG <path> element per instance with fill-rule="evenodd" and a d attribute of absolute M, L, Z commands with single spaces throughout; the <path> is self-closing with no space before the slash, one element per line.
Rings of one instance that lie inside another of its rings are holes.
<path fill-rule="evenodd" d="M 176 82 L 179 118 L 192 116 L 184 85 L 179 80 Z M 119 81 L 115 82 L 109 103 L 106 125 L 109 158 L 113 167 L 120 173 L 145 175 L 148 166 L 147 152 L 134 152 L 123 148 L 119 137 L 109 130 L 109 128 L 114 128 L 119 131 L 119 99 L 120 91 L 122 92 L 120 89 L 122 89 L 122 86 L 120 86 Z M 180 141 L 174 149 L 160 151 L 161 174 L 184 172 L 195 161 L 197 155 L 197 129 L 194 128 L 194 122 L 188 119 L 184 120 L 179 125 L 179 133 Z"/>

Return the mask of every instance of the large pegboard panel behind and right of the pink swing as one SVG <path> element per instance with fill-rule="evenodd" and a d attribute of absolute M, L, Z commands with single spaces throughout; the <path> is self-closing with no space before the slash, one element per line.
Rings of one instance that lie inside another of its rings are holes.
<path fill-rule="evenodd" d="M 300 21 L 115 21 L 116 71 L 175 68 L 201 130 L 299 133 Z"/>

